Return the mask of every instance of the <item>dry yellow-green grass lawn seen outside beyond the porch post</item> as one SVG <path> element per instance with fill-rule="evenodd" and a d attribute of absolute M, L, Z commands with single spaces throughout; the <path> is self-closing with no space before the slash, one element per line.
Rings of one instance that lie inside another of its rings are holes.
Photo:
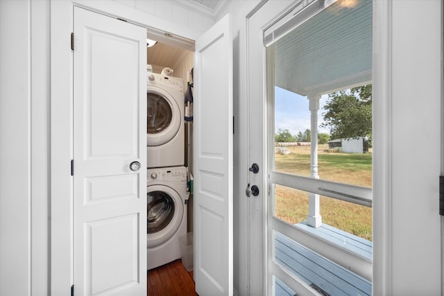
<path fill-rule="evenodd" d="M 310 147 L 290 147 L 289 155 L 275 155 L 275 171 L 310 175 Z M 318 175 L 323 180 L 372 186 L 372 154 L 327 153 L 327 146 L 318 147 Z M 308 195 L 284 186 L 275 187 L 275 216 L 289 223 L 307 218 Z M 321 196 L 323 223 L 372 240 L 372 209 L 334 198 Z"/>

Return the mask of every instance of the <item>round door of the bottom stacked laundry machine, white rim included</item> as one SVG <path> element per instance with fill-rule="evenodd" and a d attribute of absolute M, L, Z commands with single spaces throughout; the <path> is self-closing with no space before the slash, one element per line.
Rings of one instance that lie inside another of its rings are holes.
<path fill-rule="evenodd" d="M 169 186 L 153 185 L 146 193 L 146 245 L 157 247 L 178 231 L 184 205 L 179 193 Z"/>

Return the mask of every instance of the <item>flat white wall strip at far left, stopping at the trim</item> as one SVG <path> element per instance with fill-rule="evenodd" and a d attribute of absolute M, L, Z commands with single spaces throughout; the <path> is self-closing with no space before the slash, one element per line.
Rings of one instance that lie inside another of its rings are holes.
<path fill-rule="evenodd" d="M 31 290 L 30 12 L 0 1 L 0 295 Z"/>

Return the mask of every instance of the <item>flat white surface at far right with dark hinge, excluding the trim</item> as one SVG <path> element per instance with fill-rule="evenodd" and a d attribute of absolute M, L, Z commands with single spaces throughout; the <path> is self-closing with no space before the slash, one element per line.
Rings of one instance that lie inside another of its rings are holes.
<path fill-rule="evenodd" d="M 393 293 L 443 293 L 440 263 L 442 1 L 393 1 Z M 412 21 L 412 19 L 414 21 Z M 418 147 L 406 145 L 415 135 Z"/>

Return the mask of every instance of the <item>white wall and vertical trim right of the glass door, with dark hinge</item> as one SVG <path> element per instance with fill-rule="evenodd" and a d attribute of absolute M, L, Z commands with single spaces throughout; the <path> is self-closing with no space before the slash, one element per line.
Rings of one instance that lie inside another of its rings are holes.
<path fill-rule="evenodd" d="M 443 293 L 441 12 L 439 0 L 375 1 L 374 295 Z"/>

